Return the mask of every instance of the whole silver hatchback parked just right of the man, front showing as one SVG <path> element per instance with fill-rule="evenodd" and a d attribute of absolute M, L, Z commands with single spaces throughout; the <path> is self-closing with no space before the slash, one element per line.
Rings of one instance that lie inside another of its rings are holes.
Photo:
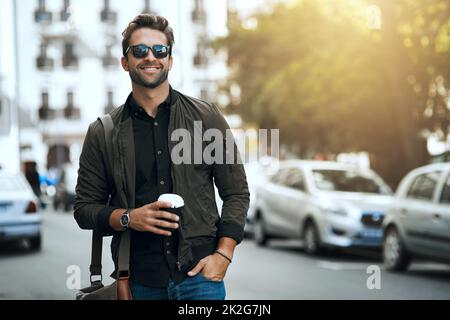
<path fill-rule="evenodd" d="M 331 161 L 283 161 L 257 188 L 255 240 L 300 238 L 305 251 L 381 248 L 392 190 L 372 170 Z"/>

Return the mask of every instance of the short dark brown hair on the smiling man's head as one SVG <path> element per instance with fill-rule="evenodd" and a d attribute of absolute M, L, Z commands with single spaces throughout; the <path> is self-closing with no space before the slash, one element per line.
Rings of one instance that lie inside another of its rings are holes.
<path fill-rule="evenodd" d="M 169 44 L 169 55 L 172 55 L 172 47 L 175 43 L 173 30 L 169 26 L 169 21 L 166 18 L 154 14 L 140 14 L 131 21 L 125 30 L 122 32 L 122 54 L 125 56 L 125 51 L 130 45 L 130 38 L 133 32 L 141 28 L 150 28 L 161 31 L 167 38 Z"/>

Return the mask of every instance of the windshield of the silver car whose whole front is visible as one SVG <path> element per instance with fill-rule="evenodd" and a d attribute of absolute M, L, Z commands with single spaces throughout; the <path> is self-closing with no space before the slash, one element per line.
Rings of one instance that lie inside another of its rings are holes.
<path fill-rule="evenodd" d="M 353 170 L 313 170 L 314 183 L 319 190 L 390 194 L 387 185 L 374 177 Z"/>

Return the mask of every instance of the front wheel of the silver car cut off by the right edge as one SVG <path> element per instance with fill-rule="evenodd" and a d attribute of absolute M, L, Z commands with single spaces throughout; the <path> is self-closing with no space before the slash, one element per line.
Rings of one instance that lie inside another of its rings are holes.
<path fill-rule="evenodd" d="M 397 229 L 389 228 L 383 239 L 383 262 L 387 270 L 404 271 L 411 258 L 403 245 Z"/>

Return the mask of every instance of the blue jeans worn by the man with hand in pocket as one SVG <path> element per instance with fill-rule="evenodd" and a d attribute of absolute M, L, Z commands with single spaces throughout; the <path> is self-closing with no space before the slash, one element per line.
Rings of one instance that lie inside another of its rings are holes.
<path fill-rule="evenodd" d="M 200 272 L 180 284 L 169 280 L 167 288 L 150 288 L 130 282 L 134 300 L 225 300 L 223 281 L 212 281 Z"/>

